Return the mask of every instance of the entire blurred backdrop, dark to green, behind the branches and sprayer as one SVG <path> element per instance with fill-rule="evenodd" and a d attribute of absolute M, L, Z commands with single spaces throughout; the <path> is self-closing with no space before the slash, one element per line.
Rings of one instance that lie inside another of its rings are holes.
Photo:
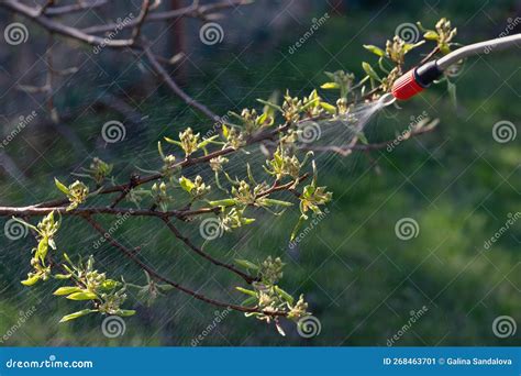
<path fill-rule="evenodd" d="M 32 1 L 27 0 L 27 3 Z M 64 1 L 65 3 L 66 1 Z M 211 2 L 211 1 L 210 1 Z M 164 1 L 180 7 L 182 1 Z M 107 14 L 135 14 L 140 2 L 119 2 L 73 19 L 82 25 L 100 23 Z M 107 12 L 107 13 L 106 13 Z M 328 21 L 293 54 L 292 46 L 313 19 Z M 222 43 L 199 40 L 201 23 L 182 20 L 156 24 L 144 32 L 159 35 L 155 49 L 165 56 L 184 52 L 169 66 L 180 85 L 218 114 L 254 107 L 256 98 L 289 89 L 308 95 L 325 81 L 323 71 L 346 69 L 363 75 L 361 63 L 373 56 L 363 44 L 383 46 L 396 27 L 421 21 L 432 26 L 446 16 L 458 29 L 457 41 L 469 44 L 497 37 L 506 30 L 519 33 L 521 2 L 514 0 L 459 1 L 268 1 L 223 12 L 218 20 Z M 0 204 L 24 206 L 59 197 L 53 178 L 70 181 L 73 172 L 93 156 L 114 163 L 124 183 L 133 166 L 157 168 L 157 140 L 186 126 L 201 132 L 208 121 L 174 97 L 151 74 L 147 63 L 129 52 L 91 48 L 59 40 L 54 64 L 78 71 L 58 80 L 55 106 L 60 121 L 49 121 L 45 98 L 16 90 L 45 79 L 46 34 L 31 22 L 0 10 L 1 30 L 23 22 L 29 41 L 0 48 L 0 123 L 7 136 L 19 117 L 37 112 L 9 145 L 0 150 Z M 513 27 L 513 29 L 512 29 Z M 420 51 L 424 53 L 425 51 Z M 412 55 L 410 63 L 421 58 Z M 490 239 L 521 211 L 520 140 L 498 143 L 492 126 L 521 119 L 520 49 L 469 59 L 453 81 L 457 106 L 445 85 L 377 114 L 367 125 L 370 141 L 392 139 L 407 129 L 411 117 L 426 113 L 440 119 L 433 133 L 386 150 L 328 158 L 321 180 L 334 192 L 329 214 L 289 248 L 297 213 L 266 217 L 253 229 L 226 234 L 207 245 L 221 258 L 264 258 L 278 255 L 287 263 L 282 286 L 303 292 L 320 320 L 321 332 L 302 339 L 293 325 L 287 336 L 273 327 L 231 312 L 212 330 L 214 307 L 170 292 L 152 307 L 131 294 L 137 314 L 125 319 L 122 336 L 102 335 L 102 318 L 87 317 L 67 324 L 59 318 L 82 308 L 80 302 L 54 298 L 56 284 L 24 288 L 31 235 L 12 241 L 0 233 L 0 334 L 2 345 L 387 345 L 408 323 L 411 312 L 426 308 L 395 345 L 520 345 L 521 330 L 501 339 L 492 322 L 509 316 L 521 325 L 521 223 L 514 223 L 488 250 Z M 124 141 L 107 144 L 101 126 L 110 120 L 125 124 Z M 417 236 L 397 237 L 396 223 L 412 218 Z M 5 219 L 0 220 L 3 228 Z M 104 221 L 110 225 L 110 219 Z M 197 233 L 197 229 L 193 231 Z M 220 299 L 240 301 L 239 280 L 193 258 L 168 230 L 153 220 L 132 219 L 115 236 L 142 245 L 146 258 L 185 285 Z M 93 254 L 110 275 L 133 283 L 145 277 L 104 244 L 80 220 L 67 220 L 58 237 L 69 254 Z M 12 330 L 34 307 L 23 325 Z"/>

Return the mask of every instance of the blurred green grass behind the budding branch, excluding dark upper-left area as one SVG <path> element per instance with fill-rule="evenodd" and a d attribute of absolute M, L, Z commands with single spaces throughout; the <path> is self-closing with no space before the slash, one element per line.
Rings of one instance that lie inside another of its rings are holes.
<path fill-rule="evenodd" d="M 474 2 L 464 3 L 456 7 L 453 2 L 442 2 L 439 8 L 442 15 L 463 25 L 458 40 L 470 43 L 495 36 L 490 20 L 481 14 L 464 25 L 468 14 L 475 12 Z M 500 7 L 488 5 L 485 10 L 497 24 L 506 23 L 507 14 Z M 288 34 L 280 45 L 267 53 L 255 46 L 244 54 L 240 47 L 236 51 L 223 48 L 202 62 L 208 76 L 191 82 L 193 92 L 204 88 L 207 81 L 213 81 L 201 100 L 213 103 L 219 113 L 230 109 L 231 103 L 252 106 L 255 98 L 267 97 L 274 89 L 289 88 L 293 95 L 303 95 L 323 81 L 321 73 L 324 70 L 344 68 L 359 75 L 361 62 L 372 58 L 362 44 L 381 45 L 397 24 L 421 19 L 424 25 L 430 25 L 436 14 L 425 9 L 406 14 L 393 8 L 366 27 L 373 16 L 373 13 L 357 11 L 346 18 L 333 18 L 320 29 L 317 38 L 308 41 L 293 55 L 289 55 L 287 48 L 300 31 Z M 231 56 L 239 57 L 233 60 Z M 223 88 L 230 101 L 217 87 Z M 386 345 L 407 323 L 410 312 L 425 306 L 428 312 L 397 345 L 519 345 L 519 331 L 516 336 L 500 340 L 494 335 L 491 324 L 501 314 L 511 316 L 521 324 L 521 225 L 516 223 L 490 251 L 484 252 L 484 242 L 505 224 L 508 213 L 520 211 L 520 139 L 499 144 L 491 133 L 492 125 L 500 120 L 519 122 L 520 87 L 520 62 L 516 52 L 467 62 L 457 77 L 459 102 L 456 109 L 440 87 L 401 103 L 403 109 L 396 118 L 379 114 L 372 122 L 369 137 L 387 140 L 396 131 L 404 130 L 410 117 L 423 111 L 441 119 L 435 133 L 403 142 L 391 153 L 374 153 L 380 175 L 363 155 L 337 158 L 329 166 L 329 173 L 321 179 L 334 192 L 331 213 L 302 240 L 298 250 L 288 251 L 285 246 L 295 214 L 281 219 L 269 217 L 266 222 L 259 221 L 262 223 L 246 239 L 237 233 L 226 235 L 219 245 L 212 244 L 213 254 L 222 253 L 231 258 L 237 253 L 252 258 L 268 254 L 282 256 L 288 263 L 284 286 L 292 292 L 306 294 L 311 311 L 321 321 L 322 332 L 312 340 L 303 340 L 295 328 L 287 327 L 288 336 L 280 338 L 273 328 L 240 313 L 230 313 L 201 344 Z M 175 99 L 162 92 L 158 98 L 142 104 L 157 126 L 140 133 L 141 143 L 135 151 L 149 145 L 146 153 L 152 152 L 164 125 L 171 123 L 174 129 L 180 129 L 196 121 L 189 113 L 174 115 L 179 109 Z M 87 118 L 85 124 L 78 124 L 81 137 L 89 140 L 91 124 L 100 121 Z M 52 188 L 57 165 L 60 175 L 70 170 L 67 158 L 63 157 L 68 148 L 63 143 L 56 144 L 45 155 L 54 162 L 52 166 L 38 162 L 32 168 L 34 196 L 38 200 L 54 195 L 44 187 Z M 141 166 L 145 159 L 153 158 L 152 154 L 132 154 L 125 150 L 121 155 L 140 161 Z M 121 177 L 125 174 L 121 173 Z M 4 191 L 3 200 L 34 201 L 23 190 Z M 420 225 L 418 237 L 411 241 L 401 241 L 395 234 L 395 223 L 404 217 L 413 218 Z M 146 241 L 146 257 L 166 269 L 174 269 L 176 279 L 190 286 L 203 285 L 202 290 L 210 296 L 241 298 L 233 292 L 235 278 L 214 274 L 206 265 L 193 262 L 178 243 L 173 244 L 168 232 L 157 230 L 158 224 L 130 222 L 119 230 L 121 235 L 129 242 L 133 239 L 143 242 L 154 233 Z M 79 223 L 67 224 L 66 230 L 66 240 L 62 243 L 67 250 L 88 246 L 96 239 Z M 213 320 L 214 308 L 174 292 L 152 308 L 138 306 L 138 314 L 128 319 L 126 333 L 120 339 L 108 340 L 101 335 L 100 318 L 58 325 L 59 317 L 74 310 L 71 303 L 48 297 L 51 286 L 22 289 L 19 285 L 26 273 L 24 251 L 30 247 L 27 237 L 15 246 L 8 244 L 9 255 L 2 253 L 1 256 L 0 278 L 4 289 L 0 300 L 0 333 L 14 323 L 16 312 L 32 305 L 37 308 L 5 342 L 9 345 L 190 345 Z M 115 265 L 113 273 L 126 270 L 143 279 L 135 269 L 122 265 L 110 247 L 102 250 L 97 254 L 101 265 L 112 268 Z M 92 250 L 81 252 L 87 254 Z"/>

